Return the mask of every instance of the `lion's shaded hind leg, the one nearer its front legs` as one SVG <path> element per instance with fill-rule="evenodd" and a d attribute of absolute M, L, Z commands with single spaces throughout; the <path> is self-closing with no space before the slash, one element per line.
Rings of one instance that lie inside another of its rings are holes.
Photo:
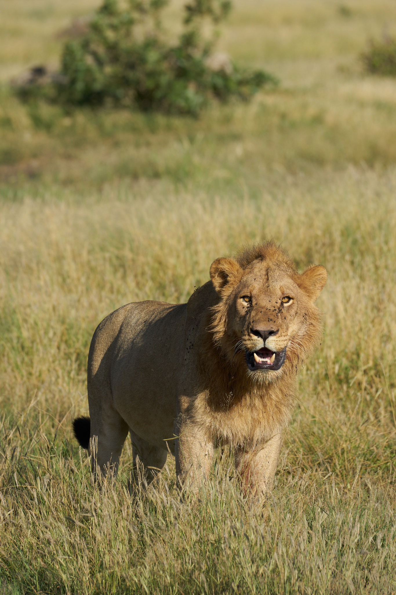
<path fill-rule="evenodd" d="M 134 459 L 134 482 L 144 481 L 150 484 L 166 463 L 167 452 L 143 440 L 129 428 Z"/>

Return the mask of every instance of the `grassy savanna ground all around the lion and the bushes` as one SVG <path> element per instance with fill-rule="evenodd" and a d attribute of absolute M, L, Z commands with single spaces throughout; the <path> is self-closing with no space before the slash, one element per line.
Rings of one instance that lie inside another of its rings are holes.
<path fill-rule="evenodd" d="M 0 2 L 0 593 L 395 593 L 396 80 L 359 54 L 396 4 L 236 1 L 220 49 L 280 85 L 198 120 L 21 105 L 96 7 Z M 198 500 L 170 458 L 132 498 L 129 444 L 99 491 L 71 436 L 94 328 L 268 237 L 328 271 L 271 499 L 226 458 Z"/>

